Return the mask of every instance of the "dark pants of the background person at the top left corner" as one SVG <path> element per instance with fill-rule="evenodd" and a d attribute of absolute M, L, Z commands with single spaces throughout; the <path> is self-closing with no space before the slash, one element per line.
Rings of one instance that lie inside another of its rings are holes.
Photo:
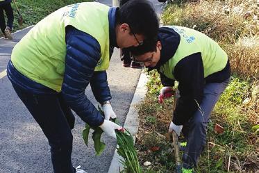
<path fill-rule="evenodd" d="M 6 29 L 6 20 L 4 19 L 3 10 L 6 12 L 7 26 L 11 30 L 12 30 L 12 24 L 13 24 L 14 17 L 13 17 L 11 3 L 7 3 L 5 5 L 0 6 L 0 28 L 1 28 L 1 31 L 4 33 L 4 30 Z"/>

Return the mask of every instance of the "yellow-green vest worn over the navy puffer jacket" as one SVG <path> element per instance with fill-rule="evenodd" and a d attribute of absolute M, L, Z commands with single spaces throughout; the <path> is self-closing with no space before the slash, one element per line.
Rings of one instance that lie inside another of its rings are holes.
<path fill-rule="evenodd" d="M 95 71 L 110 63 L 109 7 L 96 2 L 75 3 L 51 13 L 37 23 L 14 47 L 11 60 L 29 79 L 60 92 L 65 71 L 65 27 L 92 35 L 101 46 Z"/>

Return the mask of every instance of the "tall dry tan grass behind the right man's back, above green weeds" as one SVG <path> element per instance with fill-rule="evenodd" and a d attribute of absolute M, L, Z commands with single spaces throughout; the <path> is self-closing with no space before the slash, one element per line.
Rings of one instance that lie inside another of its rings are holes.
<path fill-rule="evenodd" d="M 258 80 L 258 13 L 255 0 L 209 0 L 170 6 L 162 21 L 205 33 L 228 53 L 232 72 Z"/>

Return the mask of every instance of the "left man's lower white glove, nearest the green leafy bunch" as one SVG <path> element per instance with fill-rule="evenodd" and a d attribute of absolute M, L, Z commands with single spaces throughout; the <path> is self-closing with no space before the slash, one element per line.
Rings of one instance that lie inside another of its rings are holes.
<path fill-rule="evenodd" d="M 111 122 L 109 120 L 104 120 L 103 124 L 101 124 L 101 129 L 104 131 L 104 133 L 106 133 L 108 136 L 112 137 L 112 138 L 116 138 L 116 133 L 115 130 L 118 129 L 122 129 L 122 126 L 119 126 L 118 124 L 115 124 L 114 122 Z"/>

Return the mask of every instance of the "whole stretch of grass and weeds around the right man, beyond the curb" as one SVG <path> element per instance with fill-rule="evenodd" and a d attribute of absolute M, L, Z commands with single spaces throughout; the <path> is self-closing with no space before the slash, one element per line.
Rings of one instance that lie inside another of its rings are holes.
<path fill-rule="evenodd" d="M 197 172 L 259 170 L 258 12 L 255 0 L 201 0 L 174 1 L 162 14 L 164 25 L 194 28 L 219 42 L 231 62 L 231 83 L 211 115 L 207 146 Z M 147 96 L 138 108 L 140 129 L 135 146 L 144 172 L 169 173 L 174 170 L 174 153 L 165 134 L 172 115 L 158 104 L 159 75 L 148 75 Z M 172 100 L 166 103 L 172 108 Z M 223 126 L 224 133 L 215 133 L 215 124 Z"/>

